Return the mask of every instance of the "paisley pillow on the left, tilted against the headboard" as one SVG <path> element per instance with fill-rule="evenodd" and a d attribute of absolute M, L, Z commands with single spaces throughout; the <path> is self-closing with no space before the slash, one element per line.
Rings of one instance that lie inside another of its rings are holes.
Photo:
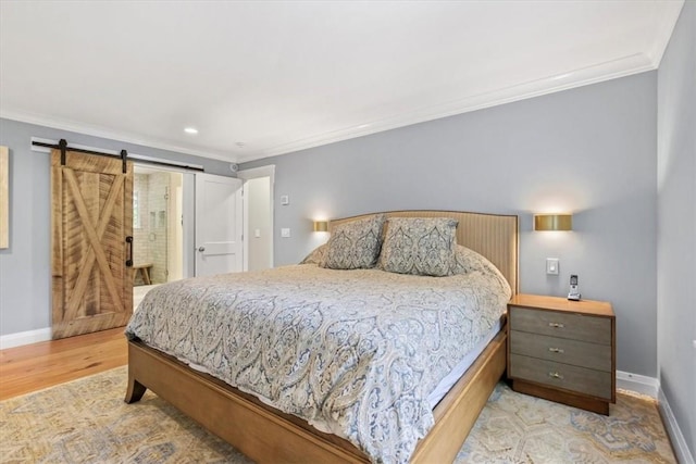
<path fill-rule="evenodd" d="M 332 269 L 371 268 L 380 256 L 384 214 L 351 221 L 334 228 L 320 264 Z"/>

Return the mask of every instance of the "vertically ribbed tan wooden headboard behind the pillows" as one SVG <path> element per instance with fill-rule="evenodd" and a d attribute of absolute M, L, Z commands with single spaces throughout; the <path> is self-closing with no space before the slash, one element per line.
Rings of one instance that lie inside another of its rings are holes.
<path fill-rule="evenodd" d="M 331 221 L 328 230 L 338 224 L 360 220 L 377 213 Z M 387 217 L 451 217 L 459 221 L 457 243 L 486 256 L 500 269 L 513 293 L 520 288 L 518 277 L 519 239 L 518 216 L 502 214 L 468 213 L 458 211 L 388 211 Z"/>

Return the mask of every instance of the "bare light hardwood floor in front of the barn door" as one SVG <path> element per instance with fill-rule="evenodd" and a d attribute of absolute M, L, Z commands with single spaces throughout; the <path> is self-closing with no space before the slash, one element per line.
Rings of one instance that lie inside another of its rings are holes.
<path fill-rule="evenodd" d="M 127 364 L 124 327 L 0 350 L 0 401 Z"/>

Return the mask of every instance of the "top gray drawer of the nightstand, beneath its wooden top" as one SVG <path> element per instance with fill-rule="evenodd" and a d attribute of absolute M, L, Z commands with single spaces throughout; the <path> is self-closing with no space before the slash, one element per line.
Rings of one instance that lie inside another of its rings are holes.
<path fill-rule="evenodd" d="M 611 319 L 574 313 L 510 306 L 514 330 L 611 344 Z"/>

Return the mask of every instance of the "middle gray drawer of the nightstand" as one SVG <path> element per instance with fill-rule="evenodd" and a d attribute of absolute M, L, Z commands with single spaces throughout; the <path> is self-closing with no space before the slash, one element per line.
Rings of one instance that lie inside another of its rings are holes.
<path fill-rule="evenodd" d="M 611 372 L 611 346 L 510 330 L 510 353 Z"/>

